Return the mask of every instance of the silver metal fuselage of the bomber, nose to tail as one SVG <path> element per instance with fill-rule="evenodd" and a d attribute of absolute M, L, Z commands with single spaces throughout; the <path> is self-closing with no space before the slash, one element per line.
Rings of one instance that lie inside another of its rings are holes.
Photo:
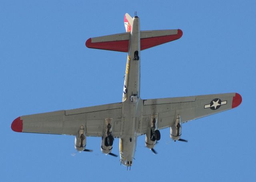
<path fill-rule="evenodd" d="M 136 131 L 142 113 L 140 100 L 140 19 L 134 17 L 132 21 L 122 100 L 124 133 L 119 140 L 120 161 L 125 166 L 132 166 L 138 136 Z M 133 102 L 130 96 L 134 96 Z"/>

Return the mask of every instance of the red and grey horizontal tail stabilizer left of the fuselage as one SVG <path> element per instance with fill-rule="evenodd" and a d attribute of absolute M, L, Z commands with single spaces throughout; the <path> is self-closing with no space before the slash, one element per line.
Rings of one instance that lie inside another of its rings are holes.
<path fill-rule="evenodd" d="M 128 52 L 130 32 L 90 38 L 85 45 L 88 48 Z"/>

